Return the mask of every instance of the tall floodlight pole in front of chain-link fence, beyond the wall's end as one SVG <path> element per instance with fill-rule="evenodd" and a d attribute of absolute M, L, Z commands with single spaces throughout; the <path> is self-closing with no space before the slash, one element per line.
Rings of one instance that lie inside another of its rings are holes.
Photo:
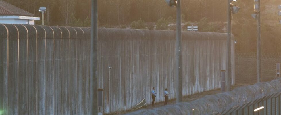
<path fill-rule="evenodd" d="M 255 14 L 251 14 L 257 20 L 257 82 L 261 82 L 261 11 L 260 0 L 254 0 Z"/>

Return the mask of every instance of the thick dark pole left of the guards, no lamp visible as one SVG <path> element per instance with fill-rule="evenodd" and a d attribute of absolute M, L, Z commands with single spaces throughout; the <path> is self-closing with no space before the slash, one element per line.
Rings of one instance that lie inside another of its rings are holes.
<path fill-rule="evenodd" d="M 98 42 L 98 9 L 97 0 L 92 1 L 91 8 L 91 58 L 90 58 L 90 113 L 89 115 L 97 115 L 98 113 L 98 79 L 97 79 L 97 42 Z"/>

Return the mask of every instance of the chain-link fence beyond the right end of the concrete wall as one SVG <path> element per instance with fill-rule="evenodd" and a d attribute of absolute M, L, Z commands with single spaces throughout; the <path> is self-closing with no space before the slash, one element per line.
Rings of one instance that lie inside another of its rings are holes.
<path fill-rule="evenodd" d="M 261 82 L 273 80 L 276 75 L 276 63 L 281 62 L 281 54 L 263 53 L 261 57 Z M 235 83 L 257 83 L 257 54 L 235 54 Z"/>

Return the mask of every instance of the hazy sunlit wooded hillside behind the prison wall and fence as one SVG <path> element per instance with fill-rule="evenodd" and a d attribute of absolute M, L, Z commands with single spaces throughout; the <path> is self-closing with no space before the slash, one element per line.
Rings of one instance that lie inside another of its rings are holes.
<path fill-rule="evenodd" d="M 45 25 L 90 27 L 91 0 L 4 0 L 36 17 L 45 6 Z M 226 32 L 227 0 L 182 0 L 182 22 L 192 23 L 201 32 Z M 251 17 L 253 0 L 237 0 L 241 7 L 232 16 L 236 53 L 256 52 L 257 21 Z M 277 15 L 279 0 L 261 1 L 261 42 L 263 52 L 281 51 L 281 26 Z M 176 8 L 165 0 L 98 0 L 99 27 L 175 30 Z M 41 21 L 36 21 L 41 24 Z M 156 26 L 156 27 L 155 27 Z M 185 28 L 183 28 L 185 30 Z"/>

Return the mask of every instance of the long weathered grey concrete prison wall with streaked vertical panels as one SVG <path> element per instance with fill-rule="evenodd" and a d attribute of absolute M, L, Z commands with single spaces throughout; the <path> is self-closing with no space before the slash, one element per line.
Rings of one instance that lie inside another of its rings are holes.
<path fill-rule="evenodd" d="M 0 110 L 88 114 L 90 29 L 0 24 Z M 164 100 L 165 88 L 175 98 L 175 36 L 175 31 L 99 28 L 104 112 L 133 108 L 144 98 L 151 103 L 152 87 L 156 102 Z M 182 32 L 183 95 L 220 88 L 225 60 L 226 34 Z"/>

